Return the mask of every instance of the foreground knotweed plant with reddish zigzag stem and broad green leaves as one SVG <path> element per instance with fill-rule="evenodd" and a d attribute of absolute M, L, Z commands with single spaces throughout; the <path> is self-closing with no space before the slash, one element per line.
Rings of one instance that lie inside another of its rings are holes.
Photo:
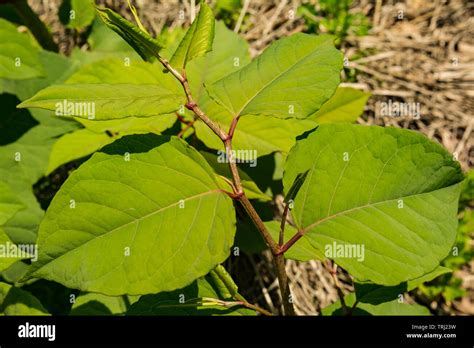
<path fill-rule="evenodd" d="M 138 27 L 97 11 L 145 62 L 86 65 L 20 104 L 85 126 L 58 141 L 48 172 L 95 152 L 48 207 L 26 278 L 149 295 L 130 314 L 270 314 L 220 266 L 242 208 L 271 251 L 287 315 L 295 310 L 285 257 L 347 270 L 356 292 L 341 294 L 344 313 L 410 314 L 393 309 L 400 294 L 447 272 L 440 262 L 456 238 L 460 167 L 416 132 L 346 123 L 367 96 L 337 88 L 343 56 L 332 36 L 295 34 L 251 61 L 204 2 L 179 44 L 165 48 L 135 11 Z M 152 134 L 176 114 L 178 136 Z M 186 141 L 193 131 L 202 143 Z M 199 151 L 203 144 L 219 156 Z M 270 198 L 238 166 L 249 151 L 289 152 L 281 221 L 264 222 L 251 201 Z"/>

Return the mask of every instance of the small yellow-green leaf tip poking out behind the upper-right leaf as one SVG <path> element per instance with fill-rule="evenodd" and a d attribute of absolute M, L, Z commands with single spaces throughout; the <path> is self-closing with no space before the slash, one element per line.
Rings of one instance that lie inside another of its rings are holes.
<path fill-rule="evenodd" d="M 321 109 L 308 117 L 317 124 L 355 122 L 364 112 L 370 93 L 339 87 Z"/>

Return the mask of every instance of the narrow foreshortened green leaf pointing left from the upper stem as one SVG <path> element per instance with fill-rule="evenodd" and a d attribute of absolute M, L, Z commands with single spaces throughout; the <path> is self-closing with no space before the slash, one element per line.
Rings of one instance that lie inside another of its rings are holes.
<path fill-rule="evenodd" d="M 43 89 L 18 107 L 100 121 L 171 113 L 181 104 L 181 96 L 157 85 L 67 84 Z"/>

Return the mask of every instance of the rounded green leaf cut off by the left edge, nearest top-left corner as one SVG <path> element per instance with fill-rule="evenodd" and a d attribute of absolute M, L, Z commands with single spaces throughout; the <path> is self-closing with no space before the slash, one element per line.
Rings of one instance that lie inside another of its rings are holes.
<path fill-rule="evenodd" d="M 40 48 L 29 34 L 0 18 L 0 78 L 22 80 L 44 76 Z"/>

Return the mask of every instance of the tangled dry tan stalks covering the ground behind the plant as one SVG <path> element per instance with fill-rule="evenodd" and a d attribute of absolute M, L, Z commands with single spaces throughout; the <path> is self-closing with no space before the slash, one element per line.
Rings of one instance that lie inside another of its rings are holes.
<path fill-rule="evenodd" d="M 60 0 L 29 2 L 53 28 L 62 52 L 68 53 L 73 45 L 82 44 L 77 35 L 59 24 L 56 14 Z M 126 2 L 98 2 L 132 19 Z M 302 2 L 316 0 L 243 0 L 235 31 L 250 42 L 251 54 L 255 56 L 273 40 L 305 30 L 304 21 L 295 15 Z M 178 13 L 192 15 L 196 10 L 193 3 L 135 1 L 142 21 L 154 33 L 165 25 L 172 28 L 189 24 L 190 16 L 181 20 Z M 359 122 L 416 129 L 441 142 L 457 156 L 464 170 L 474 165 L 473 10 L 474 4 L 463 0 L 355 1 L 351 11 L 363 12 L 372 29 L 367 36 L 349 36 L 342 46 L 350 61 L 349 68 L 356 71 L 356 81 L 345 85 L 372 93 Z M 380 105 L 388 100 L 419 103 L 420 117 L 382 117 Z M 269 255 L 244 255 L 227 263 L 237 275 L 241 289 L 252 289 L 245 296 L 271 310 L 280 306 Z M 328 268 L 317 261 L 287 262 L 298 314 L 318 313 L 337 300 L 334 278 Z M 459 271 L 467 296 L 449 305 L 433 303 L 432 309 L 442 306 L 444 314 L 474 314 L 473 269 L 471 262 Z M 352 290 L 346 273 L 338 270 L 338 279 L 343 292 Z"/>

